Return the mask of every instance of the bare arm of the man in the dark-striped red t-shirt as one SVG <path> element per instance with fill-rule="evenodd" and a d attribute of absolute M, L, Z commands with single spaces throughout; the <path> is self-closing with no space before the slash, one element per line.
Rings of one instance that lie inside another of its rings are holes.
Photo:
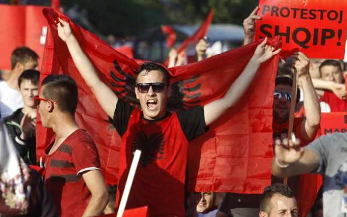
<path fill-rule="evenodd" d="M 84 182 L 92 193 L 83 217 L 101 215 L 108 201 L 109 195 L 106 189 L 105 181 L 99 170 L 91 170 L 82 174 Z"/>

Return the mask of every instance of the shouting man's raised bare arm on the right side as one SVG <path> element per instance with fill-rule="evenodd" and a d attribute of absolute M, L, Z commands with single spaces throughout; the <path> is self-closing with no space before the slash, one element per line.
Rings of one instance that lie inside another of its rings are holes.
<path fill-rule="evenodd" d="M 204 106 L 205 124 L 207 126 L 237 103 L 251 84 L 259 66 L 281 51 L 281 49 L 274 51 L 274 48 L 266 45 L 266 42 L 267 38 L 258 45 L 242 74 L 231 85 L 224 97 Z"/>

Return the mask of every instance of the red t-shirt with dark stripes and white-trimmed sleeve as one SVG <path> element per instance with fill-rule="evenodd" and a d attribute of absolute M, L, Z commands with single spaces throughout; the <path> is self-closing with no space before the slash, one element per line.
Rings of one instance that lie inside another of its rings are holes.
<path fill-rule="evenodd" d="M 52 154 L 54 140 L 45 150 L 45 187 L 61 217 L 83 215 L 91 193 L 82 173 L 100 168 L 99 155 L 93 140 L 82 129 L 73 132 Z"/>

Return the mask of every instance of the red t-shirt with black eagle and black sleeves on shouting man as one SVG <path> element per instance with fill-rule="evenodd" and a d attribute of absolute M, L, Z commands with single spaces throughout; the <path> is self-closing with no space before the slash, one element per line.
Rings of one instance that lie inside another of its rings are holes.
<path fill-rule="evenodd" d="M 148 206 L 151 217 L 184 217 L 188 145 L 205 132 L 202 107 L 155 121 L 118 100 L 114 125 L 122 136 L 117 202 L 121 199 L 133 151 L 142 150 L 127 209 Z"/>

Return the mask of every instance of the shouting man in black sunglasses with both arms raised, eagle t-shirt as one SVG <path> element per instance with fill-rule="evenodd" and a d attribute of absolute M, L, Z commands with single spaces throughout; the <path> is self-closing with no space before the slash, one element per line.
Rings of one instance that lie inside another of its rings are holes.
<path fill-rule="evenodd" d="M 225 96 L 203 107 L 169 113 L 171 87 L 167 69 L 147 62 L 137 71 L 136 98 L 141 109 L 132 108 L 98 77 L 83 53 L 69 24 L 60 19 L 58 34 L 66 42 L 81 76 L 101 107 L 113 118 L 122 137 L 117 200 L 121 198 L 135 149 L 142 150 L 127 208 L 149 206 L 151 217 L 184 217 L 185 175 L 188 145 L 206 131 L 227 109 L 236 105 L 252 82 L 259 66 L 280 50 L 266 45 L 256 49 L 242 74 Z"/>

